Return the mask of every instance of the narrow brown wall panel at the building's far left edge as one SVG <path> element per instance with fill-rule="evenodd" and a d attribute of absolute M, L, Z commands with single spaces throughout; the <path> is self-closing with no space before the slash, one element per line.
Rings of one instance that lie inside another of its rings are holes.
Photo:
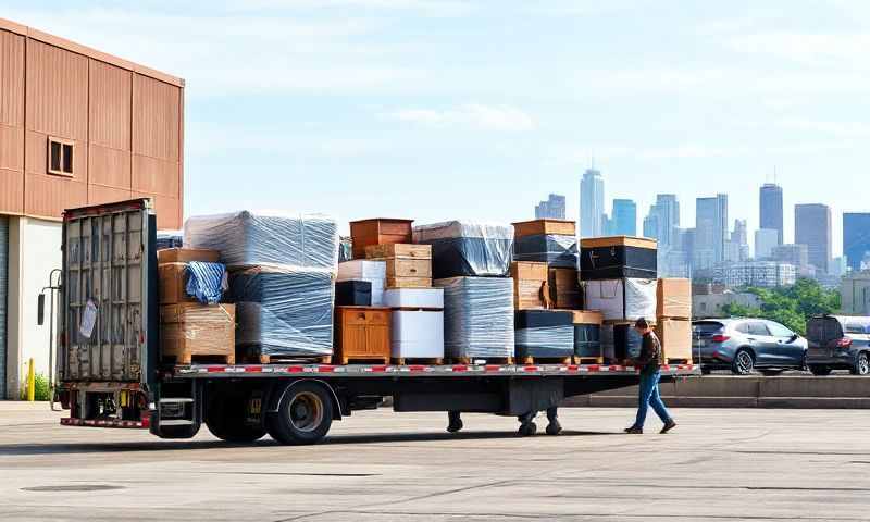
<path fill-rule="evenodd" d="M 0 212 L 24 212 L 24 37 L 0 30 Z"/>

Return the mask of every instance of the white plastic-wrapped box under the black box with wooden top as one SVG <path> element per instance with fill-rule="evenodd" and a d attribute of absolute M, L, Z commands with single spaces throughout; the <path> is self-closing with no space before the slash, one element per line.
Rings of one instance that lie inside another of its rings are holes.
<path fill-rule="evenodd" d="M 656 318 L 656 279 L 601 279 L 583 282 L 583 306 L 600 310 L 605 320 L 635 321 Z"/>

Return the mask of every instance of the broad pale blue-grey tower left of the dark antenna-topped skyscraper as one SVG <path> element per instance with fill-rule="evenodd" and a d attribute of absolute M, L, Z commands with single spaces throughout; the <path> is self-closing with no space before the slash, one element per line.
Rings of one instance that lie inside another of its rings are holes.
<path fill-rule="evenodd" d="M 693 270 L 711 269 L 725 260 L 728 195 L 695 201 L 695 250 Z"/>

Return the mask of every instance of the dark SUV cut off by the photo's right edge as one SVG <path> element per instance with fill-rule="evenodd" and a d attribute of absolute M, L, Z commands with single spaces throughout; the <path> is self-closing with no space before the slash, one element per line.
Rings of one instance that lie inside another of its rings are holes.
<path fill-rule="evenodd" d="M 807 321 L 807 365 L 813 375 L 831 370 L 870 374 L 870 318 L 820 315 Z"/>

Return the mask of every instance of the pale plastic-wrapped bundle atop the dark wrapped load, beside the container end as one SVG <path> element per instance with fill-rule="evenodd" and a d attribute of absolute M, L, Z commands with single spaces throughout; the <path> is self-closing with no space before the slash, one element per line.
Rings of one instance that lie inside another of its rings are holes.
<path fill-rule="evenodd" d="M 283 264 L 326 269 L 338 263 L 338 229 L 323 215 L 279 215 L 247 210 L 198 215 L 184 224 L 184 244 L 221 252 L 226 265 Z"/>

